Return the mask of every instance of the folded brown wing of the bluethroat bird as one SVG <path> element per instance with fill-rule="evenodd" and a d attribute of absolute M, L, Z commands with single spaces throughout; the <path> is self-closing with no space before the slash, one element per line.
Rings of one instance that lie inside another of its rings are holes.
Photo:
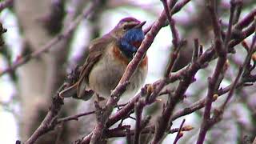
<path fill-rule="evenodd" d="M 82 71 L 78 80 L 77 94 L 78 98 L 83 98 L 86 94 L 86 87 L 88 84 L 88 77 L 90 74 L 90 70 L 94 67 L 94 65 L 98 62 L 98 60 L 102 57 L 102 54 L 106 50 L 106 47 L 110 45 L 111 42 L 115 42 L 115 38 L 113 38 L 110 34 L 106 34 L 102 38 L 97 38 L 93 42 L 91 42 L 89 47 L 89 54 L 86 62 L 82 66 Z M 83 99 L 89 99 L 92 95 L 86 96 Z"/>

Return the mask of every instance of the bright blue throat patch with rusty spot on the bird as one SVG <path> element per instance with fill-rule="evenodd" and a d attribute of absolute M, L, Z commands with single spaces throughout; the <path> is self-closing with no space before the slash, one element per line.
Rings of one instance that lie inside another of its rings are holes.
<path fill-rule="evenodd" d="M 120 38 L 119 45 L 122 54 L 126 55 L 127 58 L 132 59 L 134 54 L 137 52 L 138 47 L 136 47 L 136 43 L 141 43 L 145 35 L 141 28 L 130 29 L 126 32 L 126 34 Z"/>

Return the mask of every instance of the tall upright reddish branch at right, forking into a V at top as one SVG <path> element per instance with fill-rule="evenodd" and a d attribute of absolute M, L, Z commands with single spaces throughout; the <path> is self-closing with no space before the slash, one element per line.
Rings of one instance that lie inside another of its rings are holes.
<path fill-rule="evenodd" d="M 235 4 L 234 4 L 234 1 L 231 0 L 230 21 L 228 26 L 228 32 L 226 34 L 225 41 L 222 42 L 221 27 L 220 27 L 217 12 L 216 12 L 217 7 L 215 2 L 216 1 L 211 0 L 208 8 L 211 15 L 213 27 L 214 27 L 214 41 L 215 41 L 214 47 L 215 47 L 216 53 L 218 54 L 218 62 L 217 62 L 217 65 L 215 66 L 214 74 L 210 78 L 208 78 L 208 92 L 206 96 L 206 106 L 203 114 L 202 125 L 198 135 L 197 144 L 202 144 L 204 142 L 204 139 L 206 137 L 206 132 L 212 126 L 212 124 L 210 123 L 210 120 L 211 120 L 210 110 L 211 110 L 212 102 L 214 102 L 214 93 L 216 92 L 216 90 L 218 90 L 218 86 L 219 86 L 218 78 L 222 74 L 222 69 L 226 62 L 226 54 L 228 51 L 227 45 L 228 45 L 228 42 L 230 41 L 231 28 L 233 25 L 233 15 L 234 15 Z"/>

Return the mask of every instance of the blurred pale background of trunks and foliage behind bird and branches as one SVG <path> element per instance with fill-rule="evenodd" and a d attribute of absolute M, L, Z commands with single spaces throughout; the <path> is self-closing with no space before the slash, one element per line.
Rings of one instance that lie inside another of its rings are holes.
<path fill-rule="evenodd" d="M 229 16 L 229 1 L 219 0 L 218 15 L 222 18 L 222 27 L 227 28 Z M 22 0 L 14 1 L 13 6 L 2 10 L 0 22 L 7 29 L 1 35 L 0 71 L 11 66 L 18 58 L 30 54 L 44 46 L 51 38 L 67 28 L 70 22 L 89 0 Z M 256 1 L 242 1 L 243 18 L 255 9 Z M 76 65 L 82 65 L 86 58 L 89 42 L 106 34 L 116 23 L 124 17 L 134 17 L 141 21 L 146 20 L 150 26 L 162 12 L 162 2 L 159 0 L 104 0 L 89 19 L 85 19 L 74 32 L 53 46 L 46 54 L 40 55 L 17 70 L 10 71 L 0 77 L 0 143 L 14 143 L 17 139 L 26 140 L 38 127 L 49 108 L 51 96 L 62 84 L 67 73 Z M 181 38 L 186 38 L 187 45 L 182 48 L 174 71 L 180 70 L 190 62 L 194 46 L 194 38 L 198 38 L 204 50 L 210 46 L 213 31 L 210 23 L 206 3 L 203 0 L 191 0 L 178 14 L 174 15 Z M 162 78 L 166 68 L 170 50 L 172 49 L 172 36 L 168 26 L 162 28 L 154 43 L 148 50 L 149 73 L 146 83 L 155 82 Z M 246 38 L 251 42 L 251 37 Z M 228 86 L 238 72 L 238 65 L 242 64 L 246 50 L 241 45 L 236 46 L 236 54 L 229 56 L 230 66 L 226 78 L 221 86 Z M 186 99 L 176 109 L 188 106 L 198 99 L 206 96 L 207 77 L 210 76 L 216 61 L 196 75 L 198 81 L 194 82 L 186 92 Z M 175 87 L 175 83 L 170 87 Z M 256 89 L 248 88 L 236 90 L 221 122 L 213 127 L 206 136 L 206 143 L 242 143 L 251 141 L 256 134 Z M 162 98 L 165 100 L 165 98 Z M 225 96 L 218 98 L 214 106 L 218 106 Z M 122 98 L 121 102 L 127 102 Z M 92 102 L 81 102 L 72 98 L 65 99 L 62 116 L 77 114 L 93 110 Z M 146 107 L 146 115 L 153 115 L 154 122 L 162 103 L 155 103 Z M 202 110 L 186 115 L 174 121 L 173 126 L 178 127 L 182 119 L 186 118 L 186 125 L 194 130 L 186 132 L 179 143 L 194 143 L 198 136 L 202 120 Z M 94 126 L 94 116 L 86 116 L 78 122 L 67 122 L 49 134 L 44 135 L 38 143 L 58 142 L 70 143 L 86 135 Z M 133 120 L 126 120 L 127 124 L 134 124 Z M 8 131 L 8 132 L 7 132 Z M 61 133 L 59 132 L 61 131 Z M 58 135 L 61 134 L 61 135 Z M 176 134 L 169 134 L 163 143 L 174 141 Z M 113 138 L 109 143 L 123 143 L 123 138 Z"/>

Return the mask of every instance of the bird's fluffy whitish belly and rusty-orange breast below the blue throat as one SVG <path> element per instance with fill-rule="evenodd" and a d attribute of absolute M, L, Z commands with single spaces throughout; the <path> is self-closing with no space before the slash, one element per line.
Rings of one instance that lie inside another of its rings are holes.
<path fill-rule="evenodd" d="M 102 58 L 94 65 L 89 75 L 90 89 L 103 97 L 110 95 L 110 90 L 114 90 L 118 85 L 122 74 L 126 70 L 129 60 L 124 57 L 116 45 L 110 45 Z M 126 89 L 126 94 L 133 94 L 142 86 L 147 73 L 147 58 L 145 57 L 130 79 L 130 85 Z M 131 93 L 133 92 L 133 93 Z"/>

